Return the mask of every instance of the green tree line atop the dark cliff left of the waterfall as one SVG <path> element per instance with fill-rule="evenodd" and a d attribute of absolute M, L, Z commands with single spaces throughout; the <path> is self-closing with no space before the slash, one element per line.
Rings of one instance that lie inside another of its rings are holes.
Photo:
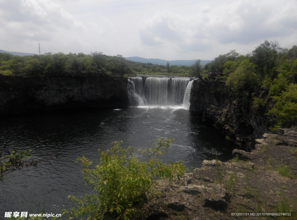
<path fill-rule="evenodd" d="M 0 53 L 0 73 L 3 75 L 25 73 L 44 75 L 56 72 L 91 72 L 125 75 L 133 71 L 122 55 L 106 56 L 102 52 L 84 53 L 45 53 L 40 56 L 14 56 Z"/>

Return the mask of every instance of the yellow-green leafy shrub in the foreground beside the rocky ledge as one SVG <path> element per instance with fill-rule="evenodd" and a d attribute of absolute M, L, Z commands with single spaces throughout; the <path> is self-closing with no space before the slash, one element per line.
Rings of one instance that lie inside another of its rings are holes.
<path fill-rule="evenodd" d="M 78 158 L 86 183 L 94 189 L 94 194 L 82 198 L 69 196 L 70 200 L 81 204 L 77 209 L 63 210 L 71 216 L 89 216 L 87 219 L 129 219 L 146 195 L 154 190 L 157 178 L 180 178 L 186 167 L 181 162 L 164 164 L 156 157 L 167 152 L 172 138 L 158 139 L 154 147 L 139 150 L 147 159 L 139 161 L 129 146 L 122 142 L 112 143 L 110 150 L 100 152 L 100 161 L 95 167 L 84 156 Z"/>

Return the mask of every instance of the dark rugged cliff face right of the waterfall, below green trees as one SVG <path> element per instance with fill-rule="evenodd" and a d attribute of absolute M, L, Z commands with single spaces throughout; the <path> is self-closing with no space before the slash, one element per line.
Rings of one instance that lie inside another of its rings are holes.
<path fill-rule="evenodd" d="M 264 98 L 267 103 L 270 100 L 268 91 L 268 88 L 259 88 L 255 96 Z M 268 133 L 267 109 L 265 106 L 240 106 L 226 90 L 224 82 L 193 82 L 190 111 L 211 121 L 228 137 L 249 150 L 255 145 L 256 138 Z"/>

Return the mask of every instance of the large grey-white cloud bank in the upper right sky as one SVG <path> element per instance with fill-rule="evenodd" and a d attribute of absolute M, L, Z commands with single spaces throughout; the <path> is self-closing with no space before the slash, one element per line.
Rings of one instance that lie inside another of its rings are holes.
<path fill-rule="evenodd" d="M 292 15 L 297 13 L 297 3 L 224 1 L 199 8 L 200 3 L 195 14 L 158 11 L 151 18 L 141 20 L 143 44 L 161 45 L 176 40 L 180 49 L 200 52 L 215 49 L 214 45 L 219 49 L 225 48 L 223 45 L 240 46 L 278 39 L 296 30 L 297 16 Z"/>

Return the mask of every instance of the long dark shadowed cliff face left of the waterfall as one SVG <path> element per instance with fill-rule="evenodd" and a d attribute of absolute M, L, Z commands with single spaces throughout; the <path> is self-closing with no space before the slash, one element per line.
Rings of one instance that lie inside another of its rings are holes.
<path fill-rule="evenodd" d="M 0 75 L 0 114 L 72 107 L 128 106 L 126 80 L 109 75 Z"/>

